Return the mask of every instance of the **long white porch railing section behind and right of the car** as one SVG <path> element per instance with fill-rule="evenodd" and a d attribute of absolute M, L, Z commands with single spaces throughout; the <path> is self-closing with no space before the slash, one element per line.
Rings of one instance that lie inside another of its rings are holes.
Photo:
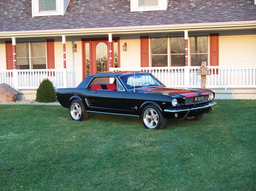
<path fill-rule="evenodd" d="M 256 66 L 209 66 L 206 88 L 256 88 Z M 113 71 L 145 71 L 152 73 L 169 87 L 201 87 L 198 66 L 113 68 Z"/>

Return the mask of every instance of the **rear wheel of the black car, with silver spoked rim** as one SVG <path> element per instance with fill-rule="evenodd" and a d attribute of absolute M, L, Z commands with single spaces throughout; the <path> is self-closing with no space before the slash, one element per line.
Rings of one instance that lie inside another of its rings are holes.
<path fill-rule="evenodd" d="M 73 120 L 83 121 L 88 118 L 84 104 L 80 100 L 73 100 L 69 107 L 70 116 Z"/>

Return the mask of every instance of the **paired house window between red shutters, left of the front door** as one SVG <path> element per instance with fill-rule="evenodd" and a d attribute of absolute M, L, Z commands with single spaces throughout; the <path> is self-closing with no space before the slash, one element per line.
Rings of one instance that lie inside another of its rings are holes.
<path fill-rule="evenodd" d="M 17 69 L 46 69 L 45 41 L 16 43 Z"/>

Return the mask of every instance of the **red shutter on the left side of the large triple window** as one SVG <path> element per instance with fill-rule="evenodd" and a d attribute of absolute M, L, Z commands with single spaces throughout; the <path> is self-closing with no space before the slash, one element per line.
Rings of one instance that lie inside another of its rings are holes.
<path fill-rule="evenodd" d="M 141 67 L 149 67 L 148 53 L 148 36 L 141 36 Z"/>

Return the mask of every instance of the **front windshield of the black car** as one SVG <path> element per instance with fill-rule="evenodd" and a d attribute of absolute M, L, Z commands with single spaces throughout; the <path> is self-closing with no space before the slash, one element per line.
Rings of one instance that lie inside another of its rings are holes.
<path fill-rule="evenodd" d="M 134 88 L 136 89 L 142 87 L 154 87 L 163 85 L 149 73 L 126 74 L 120 76 L 120 79 L 123 81 L 127 90 L 132 90 Z"/>

